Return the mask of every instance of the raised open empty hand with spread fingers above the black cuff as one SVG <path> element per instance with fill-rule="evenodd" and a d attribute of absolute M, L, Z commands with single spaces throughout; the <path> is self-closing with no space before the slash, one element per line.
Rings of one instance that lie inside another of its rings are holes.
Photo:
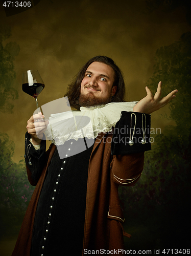
<path fill-rule="evenodd" d="M 141 112 L 145 114 L 151 114 L 152 112 L 163 108 L 172 99 L 176 97 L 178 90 L 174 90 L 163 98 L 161 96 L 161 82 L 158 83 L 157 91 L 155 95 L 151 93 L 150 89 L 146 87 L 147 96 L 141 99 L 133 108 L 134 112 Z"/>

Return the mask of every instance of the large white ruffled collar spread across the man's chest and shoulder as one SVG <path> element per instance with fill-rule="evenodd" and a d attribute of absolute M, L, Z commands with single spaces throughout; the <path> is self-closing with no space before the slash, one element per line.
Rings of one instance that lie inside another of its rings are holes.
<path fill-rule="evenodd" d="M 111 102 L 106 105 L 82 106 L 80 111 L 53 114 L 44 134 L 55 145 L 64 144 L 69 139 L 94 139 L 101 132 L 110 132 L 120 120 L 121 112 L 133 111 L 136 103 L 137 101 Z"/>

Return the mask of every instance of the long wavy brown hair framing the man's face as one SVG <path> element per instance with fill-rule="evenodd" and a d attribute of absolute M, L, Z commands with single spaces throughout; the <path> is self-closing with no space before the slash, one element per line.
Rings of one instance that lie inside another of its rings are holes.
<path fill-rule="evenodd" d="M 88 60 L 85 65 L 81 68 L 78 74 L 75 76 L 74 80 L 68 85 L 67 92 L 64 97 L 68 97 L 70 106 L 75 109 L 80 109 L 79 96 L 82 79 L 85 76 L 85 72 L 89 65 L 94 62 L 102 62 L 109 65 L 115 72 L 113 86 L 117 87 L 115 95 L 112 96 L 111 102 L 124 102 L 125 101 L 125 82 L 123 78 L 122 71 L 118 68 L 115 62 L 106 56 L 96 56 Z"/>

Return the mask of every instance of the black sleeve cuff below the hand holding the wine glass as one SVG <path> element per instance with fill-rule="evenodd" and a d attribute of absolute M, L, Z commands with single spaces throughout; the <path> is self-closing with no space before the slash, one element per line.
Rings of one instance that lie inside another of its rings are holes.
<path fill-rule="evenodd" d="M 44 136 L 44 135 L 43 135 Z M 44 166 L 46 141 L 42 139 L 40 149 L 35 150 L 33 144 L 30 142 L 31 136 L 25 135 L 25 162 L 32 173 L 32 179 L 38 181 L 42 168 Z"/>

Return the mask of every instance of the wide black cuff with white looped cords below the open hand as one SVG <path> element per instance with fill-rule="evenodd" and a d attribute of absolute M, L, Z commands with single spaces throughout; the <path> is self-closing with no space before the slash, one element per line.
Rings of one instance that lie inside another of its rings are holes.
<path fill-rule="evenodd" d="M 111 155 L 127 155 L 151 150 L 151 115 L 122 111 L 111 142 Z"/>

